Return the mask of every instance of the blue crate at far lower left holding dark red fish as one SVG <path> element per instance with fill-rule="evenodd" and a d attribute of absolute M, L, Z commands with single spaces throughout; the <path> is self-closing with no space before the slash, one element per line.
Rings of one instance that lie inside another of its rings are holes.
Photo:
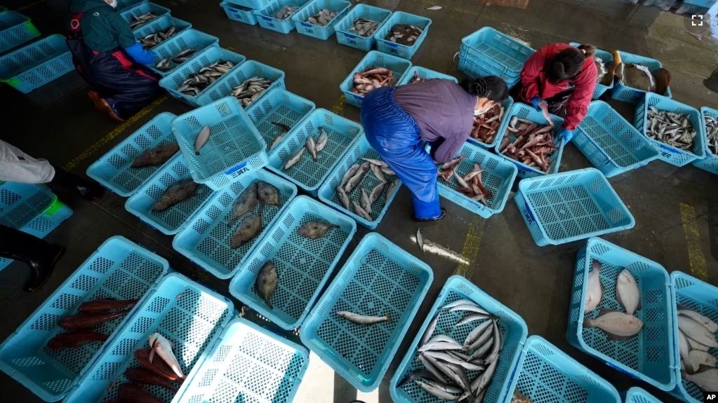
<path fill-rule="evenodd" d="M 109 336 L 106 343 L 78 349 L 45 348 L 47 341 L 63 332 L 57 321 L 75 315 L 80 303 L 88 300 L 144 298 L 167 270 L 167 260 L 144 247 L 123 237 L 109 238 L 0 345 L 0 369 L 47 402 L 62 399 L 137 308 L 94 329 Z"/>

